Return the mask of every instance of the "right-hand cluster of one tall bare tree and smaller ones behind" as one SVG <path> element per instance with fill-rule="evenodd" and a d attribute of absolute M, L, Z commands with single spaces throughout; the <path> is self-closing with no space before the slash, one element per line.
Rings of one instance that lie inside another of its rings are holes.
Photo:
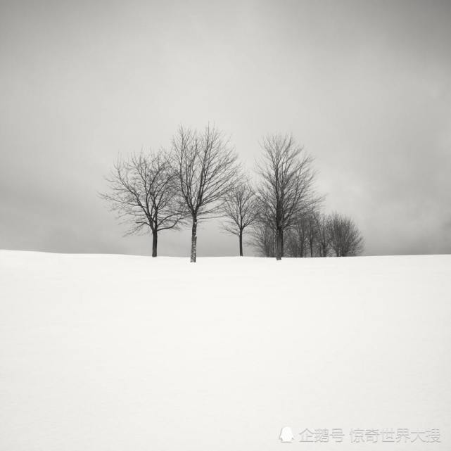
<path fill-rule="evenodd" d="M 345 257 L 363 250 L 355 222 L 344 215 L 322 212 L 323 196 L 316 193 L 312 158 L 292 136 L 268 136 L 262 141 L 262 160 L 255 189 L 258 209 L 252 243 L 261 255 Z"/>

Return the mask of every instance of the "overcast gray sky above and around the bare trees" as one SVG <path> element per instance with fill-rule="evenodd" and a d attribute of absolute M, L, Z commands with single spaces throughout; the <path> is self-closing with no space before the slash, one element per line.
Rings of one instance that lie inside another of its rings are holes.
<path fill-rule="evenodd" d="M 210 121 L 249 170 L 292 132 L 365 253 L 451 253 L 450 23 L 450 1 L 1 1 L 0 248 L 150 253 L 103 176 Z M 158 246 L 189 255 L 189 231 Z"/>

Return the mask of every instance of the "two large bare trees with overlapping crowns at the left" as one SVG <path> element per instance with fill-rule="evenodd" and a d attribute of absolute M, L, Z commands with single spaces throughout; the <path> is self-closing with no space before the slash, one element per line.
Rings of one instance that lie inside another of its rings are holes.
<path fill-rule="evenodd" d="M 222 215 L 227 196 L 239 182 L 239 165 L 215 127 L 202 132 L 180 127 L 171 152 L 120 158 L 107 181 L 110 191 L 101 197 L 120 219 L 131 222 L 128 234 L 150 229 L 153 257 L 159 231 L 191 220 L 191 262 L 196 262 L 198 220 Z"/>

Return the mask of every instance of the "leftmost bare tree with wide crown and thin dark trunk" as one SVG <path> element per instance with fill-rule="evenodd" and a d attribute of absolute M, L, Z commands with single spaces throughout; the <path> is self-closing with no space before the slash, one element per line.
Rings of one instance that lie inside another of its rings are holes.
<path fill-rule="evenodd" d="M 177 228 L 184 217 L 170 155 L 162 150 L 119 158 L 106 180 L 110 193 L 101 193 L 101 198 L 110 203 L 122 223 L 132 222 L 127 235 L 151 230 L 152 257 L 156 257 L 158 232 Z"/>

